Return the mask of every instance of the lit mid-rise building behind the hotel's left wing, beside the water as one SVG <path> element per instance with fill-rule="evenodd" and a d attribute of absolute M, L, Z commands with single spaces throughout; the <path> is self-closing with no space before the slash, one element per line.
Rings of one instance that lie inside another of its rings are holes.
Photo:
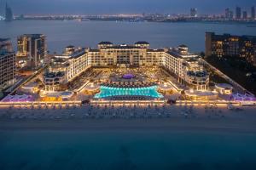
<path fill-rule="evenodd" d="M 37 69 L 46 55 L 46 37 L 43 34 L 25 34 L 18 37 L 18 69 Z"/>

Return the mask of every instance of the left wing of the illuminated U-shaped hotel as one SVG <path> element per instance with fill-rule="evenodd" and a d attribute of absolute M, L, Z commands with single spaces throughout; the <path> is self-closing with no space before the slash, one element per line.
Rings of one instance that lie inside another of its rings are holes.
<path fill-rule="evenodd" d="M 44 73 L 45 91 L 61 91 L 67 88 L 67 83 L 90 68 L 88 54 L 83 48 L 73 46 L 65 48 L 62 55 L 56 55 Z"/>

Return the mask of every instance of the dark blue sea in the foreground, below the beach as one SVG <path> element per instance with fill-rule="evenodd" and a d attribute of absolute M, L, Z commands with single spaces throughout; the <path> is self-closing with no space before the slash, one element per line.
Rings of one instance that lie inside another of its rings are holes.
<path fill-rule="evenodd" d="M 254 170 L 248 133 L 0 132 L 0 169 Z"/>

